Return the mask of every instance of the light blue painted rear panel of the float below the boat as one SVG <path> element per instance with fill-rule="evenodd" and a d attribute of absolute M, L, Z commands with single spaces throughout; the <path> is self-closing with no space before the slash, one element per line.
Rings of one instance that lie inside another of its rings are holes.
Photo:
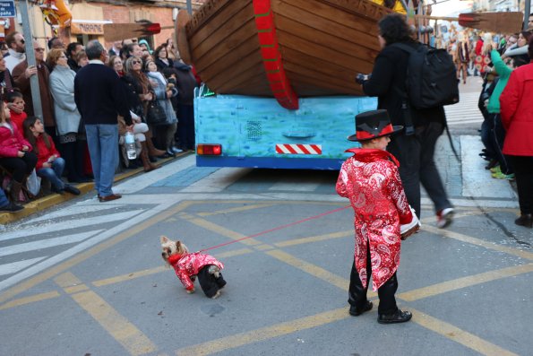
<path fill-rule="evenodd" d="M 298 160 L 305 162 L 303 166 L 306 169 L 315 166 L 316 169 L 327 169 L 320 167 L 330 167 L 331 163 L 324 164 L 323 160 L 344 161 L 349 157 L 344 151 L 357 145 L 347 139 L 348 135 L 355 133 L 355 116 L 377 107 L 377 100 L 368 97 L 304 98 L 299 103 L 300 109 L 288 110 L 281 108 L 272 98 L 239 95 L 197 97 L 194 101 L 196 143 L 222 145 L 221 157 L 201 158 L 199 162 L 205 166 L 224 167 L 224 163 L 215 161 L 229 163 L 240 160 L 239 164 L 228 166 L 254 167 L 249 159 L 261 158 L 271 159 L 271 163 L 269 160 L 258 160 L 263 168 L 295 168 L 285 167 L 290 165 L 280 162 Z M 317 144 L 322 146 L 322 154 L 279 154 L 276 153 L 277 143 Z M 310 160 L 322 161 L 307 163 Z"/>

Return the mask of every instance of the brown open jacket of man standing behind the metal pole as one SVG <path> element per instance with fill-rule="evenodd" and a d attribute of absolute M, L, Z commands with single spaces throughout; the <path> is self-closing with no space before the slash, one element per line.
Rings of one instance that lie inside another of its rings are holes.
<path fill-rule="evenodd" d="M 13 68 L 13 80 L 17 88 L 21 90 L 26 106 L 24 111 L 29 117 L 34 116 L 33 100 L 31 100 L 30 78 L 26 78 L 24 72 L 28 69 L 28 61 L 22 61 Z M 54 99 L 50 93 L 50 73 L 47 65 L 41 62 L 37 65 L 37 77 L 39 79 L 40 105 L 43 110 L 43 124 L 47 127 L 56 126 L 54 115 Z"/>

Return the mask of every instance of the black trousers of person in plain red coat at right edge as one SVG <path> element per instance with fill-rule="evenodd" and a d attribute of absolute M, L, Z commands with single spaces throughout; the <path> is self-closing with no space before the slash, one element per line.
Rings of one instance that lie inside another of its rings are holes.
<path fill-rule="evenodd" d="M 508 156 L 514 169 L 520 213 L 533 213 L 533 157 Z"/>

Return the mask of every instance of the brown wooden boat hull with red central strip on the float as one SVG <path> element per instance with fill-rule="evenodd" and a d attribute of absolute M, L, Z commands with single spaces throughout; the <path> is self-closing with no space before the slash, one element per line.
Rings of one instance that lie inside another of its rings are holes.
<path fill-rule="evenodd" d="M 178 49 L 212 91 L 297 109 L 301 97 L 363 95 L 354 78 L 372 71 L 391 12 L 367 0 L 208 0 L 179 12 Z"/>

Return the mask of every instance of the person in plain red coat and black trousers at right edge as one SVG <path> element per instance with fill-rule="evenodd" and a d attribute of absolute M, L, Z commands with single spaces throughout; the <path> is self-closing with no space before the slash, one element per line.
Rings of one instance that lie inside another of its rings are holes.
<path fill-rule="evenodd" d="M 500 114 L 506 135 L 503 153 L 516 178 L 520 217 L 515 224 L 533 227 L 533 36 L 529 37 L 529 65 L 512 71 L 500 95 Z M 529 98 L 529 99 L 528 99 Z"/>

